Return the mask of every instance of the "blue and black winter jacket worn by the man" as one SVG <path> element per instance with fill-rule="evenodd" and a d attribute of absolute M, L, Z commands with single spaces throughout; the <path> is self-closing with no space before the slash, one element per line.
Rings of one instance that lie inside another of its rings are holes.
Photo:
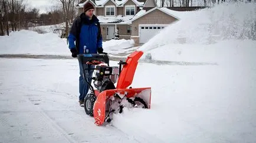
<path fill-rule="evenodd" d="M 99 19 L 93 15 L 89 20 L 85 13 L 81 13 L 71 27 L 68 43 L 70 49 L 76 48 L 80 54 L 84 53 L 84 46 L 88 53 L 97 53 L 97 48 L 102 48 Z"/>

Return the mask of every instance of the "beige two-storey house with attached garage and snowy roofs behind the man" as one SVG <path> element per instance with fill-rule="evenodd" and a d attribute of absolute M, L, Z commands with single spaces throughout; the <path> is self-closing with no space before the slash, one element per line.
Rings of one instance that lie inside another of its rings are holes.
<path fill-rule="evenodd" d="M 83 0 L 77 5 L 79 14 L 86 2 L 95 7 L 94 15 L 100 20 L 103 40 L 112 39 L 117 30 L 120 39 L 146 43 L 165 26 L 178 20 L 170 9 L 157 7 L 155 0 Z"/>

